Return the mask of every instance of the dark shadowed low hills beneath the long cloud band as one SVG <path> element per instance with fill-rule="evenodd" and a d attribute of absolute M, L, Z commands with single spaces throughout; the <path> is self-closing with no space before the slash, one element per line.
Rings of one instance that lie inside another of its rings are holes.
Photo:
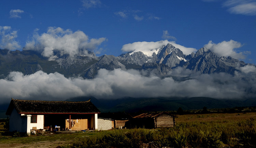
<path fill-rule="evenodd" d="M 256 106 L 256 98 L 244 100 L 214 99 L 207 97 L 194 98 L 131 98 L 113 100 L 98 100 L 93 96 L 75 97 L 66 101 L 87 101 L 91 102 L 101 111 L 107 112 L 157 112 L 157 111 L 176 111 L 179 107 L 183 110 L 202 109 L 204 106 L 208 109 L 213 108 L 233 108 L 242 106 Z M 0 119 L 6 118 L 5 112 L 9 104 L 2 104 L 0 110 Z"/>

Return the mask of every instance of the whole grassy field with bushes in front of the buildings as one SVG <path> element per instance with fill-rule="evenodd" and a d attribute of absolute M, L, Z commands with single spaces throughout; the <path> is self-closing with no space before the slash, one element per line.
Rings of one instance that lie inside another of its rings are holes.
<path fill-rule="evenodd" d="M 5 135 L 0 123 L 0 147 L 256 147 L 256 113 L 178 117 L 176 126 L 170 129 L 46 133 L 30 137 Z"/>

